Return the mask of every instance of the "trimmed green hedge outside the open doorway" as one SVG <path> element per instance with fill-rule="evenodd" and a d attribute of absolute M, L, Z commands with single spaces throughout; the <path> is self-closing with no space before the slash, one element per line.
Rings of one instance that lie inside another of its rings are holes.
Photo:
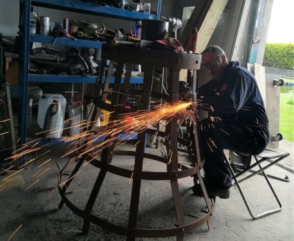
<path fill-rule="evenodd" d="M 267 44 L 263 65 L 294 70 L 294 44 Z"/>

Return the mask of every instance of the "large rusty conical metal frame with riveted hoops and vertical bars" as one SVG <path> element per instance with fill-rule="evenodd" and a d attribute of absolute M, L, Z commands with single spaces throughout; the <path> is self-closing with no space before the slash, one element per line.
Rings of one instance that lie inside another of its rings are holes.
<path fill-rule="evenodd" d="M 137 58 L 133 58 L 134 51 L 136 51 Z M 109 88 L 110 74 L 106 76 L 105 84 L 101 83 L 102 76 L 98 77 L 96 95 L 94 99 L 94 113 L 92 115 L 92 120 L 94 122 L 95 116 L 99 115 L 99 111 L 101 109 L 105 109 L 111 112 L 110 120 L 115 120 L 118 118 L 119 114 L 129 113 L 129 110 L 119 107 L 122 104 L 125 104 L 127 100 L 127 96 L 133 93 L 136 95 L 141 95 L 141 110 L 149 109 L 149 99 L 150 96 L 157 96 L 159 98 L 166 99 L 167 102 L 171 104 L 176 104 L 179 101 L 178 98 L 178 81 L 179 81 L 179 72 L 181 69 L 191 68 L 193 70 L 193 79 L 192 79 L 192 88 L 194 97 L 196 98 L 196 70 L 200 68 L 201 55 L 198 54 L 188 54 L 188 53 L 175 53 L 175 52 L 167 52 L 160 50 L 150 50 L 150 49 L 140 49 L 140 48 L 127 48 L 121 46 L 103 46 L 101 53 L 102 60 L 109 59 L 110 66 L 117 62 L 117 68 L 115 73 L 115 83 L 113 87 L 113 93 L 111 93 L 111 89 Z M 103 61 L 102 61 L 103 62 Z M 122 70 L 123 65 L 126 63 L 126 77 L 125 82 L 121 85 L 122 78 Z M 130 89 L 130 72 L 133 64 L 141 64 L 145 66 L 145 75 L 143 82 L 143 89 Z M 152 81 L 153 81 L 153 71 L 154 68 L 165 67 L 170 69 L 170 74 L 168 78 L 169 82 L 169 93 L 158 93 L 153 92 Z M 100 68 L 103 68 L 101 65 Z M 102 96 L 99 96 L 101 93 Z M 109 96 L 111 94 L 111 96 Z M 100 97 L 100 98 L 99 98 Z M 111 104 L 105 104 L 103 100 L 106 97 L 110 98 Z M 99 101 L 102 99 L 102 101 Z M 98 111 L 97 108 L 98 107 Z M 136 237 L 146 237 L 146 238 L 154 238 L 154 237 L 170 237 L 176 236 L 178 241 L 184 240 L 184 234 L 193 231 L 195 228 L 207 223 L 208 227 L 211 228 L 211 216 L 214 211 L 215 198 L 209 199 L 208 194 L 206 192 L 202 176 L 200 174 L 200 170 L 203 168 L 204 162 L 201 162 L 200 155 L 197 153 L 196 159 L 193 160 L 194 166 L 191 168 L 183 166 L 178 163 L 177 156 L 177 144 L 181 142 L 182 144 L 189 145 L 190 142 L 186 140 L 179 139 L 177 136 L 177 121 L 181 119 L 180 115 L 176 115 L 173 119 L 168 121 L 166 131 L 158 131 L 156 129 L 147 128 L 146 130 L 138 133 L 137 140 L 139 141 L 136 145 L 135 151 L 114 151 L 114 147 L 116 142 L 113 141 L 110 145 L 104 146 L 102 149 L 100 160 L 98 158 L 94 158 L 95 154 L 91 153 L 83 153 L 87 148 L 88 139 L 82 144 L 83 149 L 74 153 L 70 158 L 68 163 L 65 165 L 64 169 L 61 170 L 58 183 L 59 183 L 59 193 L 62 197 L 61 202 L 58 206 L 59 209 L 66 204 L 75 214 L 84 219 L 83 224 L 83 233 L 87 234 L 90 228 L 90 223 L 94 223 L 104 229 L 110 230 L 114 233 L 127 236 L 127 240 L 134 241 Z M 184 118 L 185 119 L 185 118 Z M 188 125 L 195 121 L 190 121 Z M 195 135 L 191 138 L 195 140 L 195 149 L 196 152 L 199 152 L 199 140 L 197 136 L 197 126 L 195 126 Z M 87 131 L 92 131 L 93 136 L 96 135 L 96 131 L 92 129 L 90 126 Z M 146 146 L 146 134 L 152 134 L 155 136 L 164 137 L 167 139 L 164 142 L 164 145 L 167 147 L 167 157 L 161 157 L 153 154 L 145 153 Z M 118 136 L 118 134 L 116 134 Z M 110 138 L 110 137 L 108 137 Z M 94 150 L 95 151 L 95 150 Z M 111 164 L 112 158 L 114 155 L 127 155 L 134 156 L 135 163 L 134 169 L 123 169 Z M 78 158 L 78 156 L 81 156 Z M 167 164 L 166 172 L 157 172 L 157 171 L 143 171 L 143 160 L 144 158 L 152 159 L 155 161 L 159 161 Z M 88 202 L 84 210 L 77 208 L 73 203 L 66 197 L 65 193 L 69 185 L 71 184 L 73 178 L 75 178 L 75 174 L 80 169 L 81 165 L 87 161 L 92 160 L 89 164 L 93 165 L 100 169 L 92 192 L 89 196 Z M 64 173 L 68 169 L 69 166 L 76 162 L 76 166 L 73 169 L 73 172 L 68 177 L 68 182 L 63 187 L 60 187 L 60 183 L 63 181 Z M 181 168 L 181 169 L 180 169 Z M 180 170 L 179 170 L 180 169 Z M 130 198 L 130 210 L 129 210 L 129 219 L 126 227 L 118 226 L 113 223 L 110 223 L 102 218 L 96 217 L 91 214 L 92 208 L 97 200 L 99 190 L 103 185 L 103 180 L 107 172 L 111 172 L 113 174 L 117 174 L 123 177 L 131 177 L 133 179 L 132 183 L 132 192 Z M 133 173 L 133 174 L 132 174 Z M 184 212 L 181 204 L 180 192 L 178 187 L 178 179 L 194 176 L 196 175 L 199 183 L 201 185 L 202 191 L 204 193 L 204 199 L 207 206 L 207 211 L 204 211 L 205 215 L 200 217 L 196 221 L 187 224 L 184 218 Z M 140 189 L 141 189 L 141 180 L 170 180 L 172 186 L 172 195 L 174 201 L 175 215 L 177 220 L 177 227 L 173 228 L 165 228 L 165 229 L 142 229 L 137 228 L 137 216 L 138 216 L 138 207 L 139 207 L 139 199 L 140 199 Z"/>

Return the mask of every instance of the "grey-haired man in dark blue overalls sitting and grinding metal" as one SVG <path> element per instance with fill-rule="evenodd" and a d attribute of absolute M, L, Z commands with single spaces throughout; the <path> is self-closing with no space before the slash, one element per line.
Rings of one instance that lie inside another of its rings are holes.
<path fill-rule="evenodd" d="M 199 108 L 208 111 L 208 119 L 200 121 L 204 183 L 210 198 L 229 198 L 232 177 L 223 149 L 261 153 L 269 143 L 269 121 L 255 77 L 238 62 L 228 62 L 220 47 L 205 48 L 202 68 L 212 77 L 197 97 Z M 203 195 L 199 184 L 193 192 Z"/>

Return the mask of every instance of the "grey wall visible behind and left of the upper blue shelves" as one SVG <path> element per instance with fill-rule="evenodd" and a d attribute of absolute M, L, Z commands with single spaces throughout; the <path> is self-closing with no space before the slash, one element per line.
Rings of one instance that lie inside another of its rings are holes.
<path fill-rule="evenodd" d="M 157 0 L 146 0 L 151 3 L 151 8 L 157 9 Z M 174 11 L 174 3 L 176 0 L 162 0 L 161 13 L 164 16 L 172 16 Z M 125 28 L 128 31 L 134 28 L 134 22 L 117 20 L 111 18 L 103 18 L 81 13 L 73 13 L 67 11 L 60 11 L 55 9 L 38 7 L 36 8 L 38 16 L 46 16 L 50 18 L 50 22 L 60 22 L 64 18 L 84 20 L 90 22 L 102 22 L 107 28 L 117 29 Z M 17 35 L 19 25 L 19 0 L 0 0 L 0 33 L 8 36 Z"/>

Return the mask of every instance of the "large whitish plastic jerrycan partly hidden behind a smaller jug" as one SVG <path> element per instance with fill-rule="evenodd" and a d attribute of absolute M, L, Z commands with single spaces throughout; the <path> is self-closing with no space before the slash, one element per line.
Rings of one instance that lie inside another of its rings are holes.
<path fill-rule="evenodd" d="M 37 122 L 40 128 L 44 127 L 44 121 L 45 121 L 47 110 L 49 108 L 50 103 L 52 103 L 54 99 L 60 103 L 63 115 L 65 113 L 66 98 L 64 96 L 60 94 L 43 94 L 42 97 L 39 99 L 39 105 L 38 105 Z"/>

